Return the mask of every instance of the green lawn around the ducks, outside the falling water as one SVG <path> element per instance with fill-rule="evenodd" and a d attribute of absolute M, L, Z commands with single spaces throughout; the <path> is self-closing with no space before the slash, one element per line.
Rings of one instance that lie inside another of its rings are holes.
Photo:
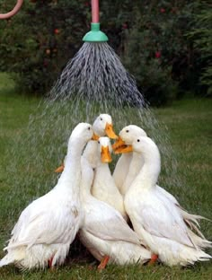
<path fill-rule="evenodd" d="M 14 91 L 13 81 L 5 74 L 0 74 L 0 249 L 9 237 L 9 231 L 18 217 L 13 210 L 13 202 L 8 203 L 14 186 L 9 186 L 5 171 L 5 150 L 12 140 L 19 136 L 28 124 L 28 119 L 39 104 L 38 99 L 27 98 Z M 154 109 L 161 127 L 168 128 L 170 142 L 178 162 L 181 184 L 179 188 L 163 186 L 169 189 L 181 202 L 181 205 L 192 213 L 211 216 L 211 181 L 212 181 L 212 100 L 176 101 L 169 108 Z M 15 159 L 11 158 L 11 161 Z M 162 162 L 163 164 L 163 162 Z M 18 188 L 18 186 L 16 186 Z M 18 199 L 18 197 L 17 197 Z M 14 201 L 15 203 L 15 201 Z M 10 207 L 7 209 L 6 207 Z M 4 213 L 4 214 L 1 214 Z M 208 239 L 212 236 L 212 224 L 203 222 L 202 231 Z M 212 253 L 210 251 L 210 253 Z M 0 258 L 4 252 L 0 251 Z M 55 271 L 20 272 L 13 266 L 0 268 L 0 279 L 212 279 L 211 262 L 199 263 L 194 267 L 117 267 L 108 266 L 99 273 L 96 263 L 85 261 L 80 256 L 70 256 L 64 267 Z"/>

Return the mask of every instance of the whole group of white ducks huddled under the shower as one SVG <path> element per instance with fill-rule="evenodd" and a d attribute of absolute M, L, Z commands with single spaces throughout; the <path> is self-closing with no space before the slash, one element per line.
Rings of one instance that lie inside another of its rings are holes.
<path fill-rule="evenodd" d="M 121 153 L 113 174 L 112 151 Z M 108 114 L 93 126 L 78 124 L 58 171 L 57 185 L 22 211 L 0 267 L 62 265 L 76 233 L 99 269 L 157 260 L 185 267 L 212 258 L 204 251 L 212 243 L 199 230 L 204 217 L 157 185 L 160 153 L 142 128 L 129 125 L 117 136 Z"/>

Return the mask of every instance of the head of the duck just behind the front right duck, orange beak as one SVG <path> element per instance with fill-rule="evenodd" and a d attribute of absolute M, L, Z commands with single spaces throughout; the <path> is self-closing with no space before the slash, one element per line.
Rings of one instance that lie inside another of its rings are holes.
<path fill-rule="evenodd" d="M 146 136 L 144 129 L 135 125 L 124 127 L 120 133 L 118 140 L 112 145 L 115 153 L 133 152 L 132 144 L 139 136 Z"/>

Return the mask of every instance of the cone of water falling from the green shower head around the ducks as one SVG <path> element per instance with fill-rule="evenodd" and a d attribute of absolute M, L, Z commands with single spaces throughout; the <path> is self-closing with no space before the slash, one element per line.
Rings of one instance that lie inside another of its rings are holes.
<path fill-rule="evenodd" d="M 54 170 L 66 155 L 73 127 L 82 121 L 93 123 L 100 113 L 112 116 L 117 133 L 129 124 L 143 127 L 162 153 L 163 186 L 179 186 L 167 131 L 148 108 L 135 79 L 107 43 L 84 43 L 8 152 L 14 159 L 7 166 L 8 184 L 13 186 L 8 197 L 13 207 L 8 209 L 15 219 L 31 200 L 56 184 Z M 117 159 L 114 155 L 114 163 Z"/>

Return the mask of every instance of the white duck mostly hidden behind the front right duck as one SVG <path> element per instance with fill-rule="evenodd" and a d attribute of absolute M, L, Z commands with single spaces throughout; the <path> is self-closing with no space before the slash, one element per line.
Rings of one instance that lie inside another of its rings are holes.
<path fill-rule="evenodd" d="M 128 174 L 126 176 L 122 188 L 120 189 L 120 192 L 123 196 L 125 196 L 125 194 L 128 192 L 128 188 L 130 188 L 130 185 L 132 184 L 133 180 L 137 177 L 138 172 L 141 170 L 144 164 L 143 154 L 133 152 L 132 147 L 130 146 L 134 141 L 137 140 L 137 137 L 139 136 L 146 136 L 146 132 L 140 127 L 130 125 L 128 127 L 124 127 L 120 131 L 117 142 L 112 145 L 113 149 L 115 150 L 115 153 L 123 153 L 122 155 L 124 155 L 125 153 L 132 154 L 132 159 L 129 162 Z M 205 218 L 197 214 L 190 214 L 186 212 L 184 209 L 182 209 L 177 199 L 173 197 L 164 188 L 156 186 L 155 190 L 158 193 L 160 193 L 160 195 L 165 196 L 167 199 L 171 200 L 173 204 L 178 206 L 184 221 L 190 226 L 191 230 L 195 230 L 196 232 L 198 232 L 200 236 L 199 237 L 194 232 L 191 232 L 189 230 L 190 235 L 192 235 L 192 238 L 195 240 L 195 243 L 198 244 L 198 246 L 201 248 L 207 248 L 210 243 L 208 243 L 208 241 L 204 238 L 202 233 L 199 231 L 199 222 L 198 222 L 199 219 L 205 219 Z"/>

